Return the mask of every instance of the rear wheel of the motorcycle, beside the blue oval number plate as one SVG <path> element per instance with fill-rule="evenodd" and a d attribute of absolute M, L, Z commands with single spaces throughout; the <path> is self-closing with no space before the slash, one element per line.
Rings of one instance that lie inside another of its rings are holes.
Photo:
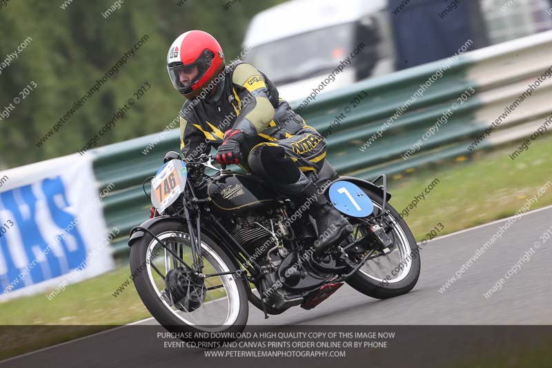
<path fill-rule="evenodd" d="M 374 204 L 371 217 L 382 213 L 383 198 L 381 195 L 362 188 Z M 387 231 L 393 241 L 390 248 L 376 254 L 363 267 L 349 277 L 346 282 L 357 291 L 377 299 L 393 298 L 408 293 L 420 277 L 420 253 L 414 235 L 399 213 L 386 203 L 388 215 L 384 222 L 391 225 Z M 368 217 L 370 218 L 370 217 Z M 353 224 L 353 238 L 366 234 L 366 225 L 355 217 L 347 217 Z"/>

